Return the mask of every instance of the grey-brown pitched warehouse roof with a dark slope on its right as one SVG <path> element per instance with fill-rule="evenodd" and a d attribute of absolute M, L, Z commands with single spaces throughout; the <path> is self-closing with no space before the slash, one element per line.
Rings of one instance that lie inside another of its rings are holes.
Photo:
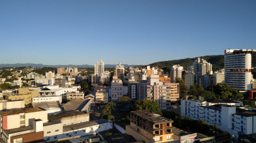
<path fill-rule="evenodd" d="M 66 104 L 63 104 L 63 108 L 65 111 L 82 110 L 89 101 L 90 100 L 70 100 Z"/>

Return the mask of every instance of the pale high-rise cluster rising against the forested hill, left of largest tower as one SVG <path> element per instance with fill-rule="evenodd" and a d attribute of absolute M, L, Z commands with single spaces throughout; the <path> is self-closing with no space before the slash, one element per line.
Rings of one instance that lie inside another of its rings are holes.
<path fill-rule="evenodd" d="M 197 58 L 195 62 L 193 62 L 193 70 L 195 75 L 206 75 L 207 73 L 212 72 L 212 64 L 206 62 L 206 60 Z"/>

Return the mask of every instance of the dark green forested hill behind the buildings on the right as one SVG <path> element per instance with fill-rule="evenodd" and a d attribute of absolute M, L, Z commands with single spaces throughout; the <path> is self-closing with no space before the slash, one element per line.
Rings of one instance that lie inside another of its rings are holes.
<path fill-rule="evenodd" d="M 163 68 L 164 70 L 169 71 L 174 64 L 180 64 L 180 66 L 183 66 L 184 69 L 187 69 L 189 66 L 193 65 L 193 62 L 196 60 L 196 58 L 197 57 L 185 58 L 185 59 L 180 59 L 180 60 L 168 60 L 168 61 L 163 61 L 163 62 L 155 62 L 153 64 L 150 64 L 150 66 L 158 66 L 158 67 Z M 200 58 L 201 59 L 203 58 L 207 62 L 210 62 L 212 64 L 213 71 L 224 68 L 224 56 L 223 55 L 202 56 Z M 253 54 L 252 54 L 252 66 L 253 67 L 256 66 L 256 53 L 255 52 L 253 52 Z M 254 69 L 253 72 L 256 73 L 256 69 Z M 253 74 L 253 75 L 255 75 L 255 74 Z"/>

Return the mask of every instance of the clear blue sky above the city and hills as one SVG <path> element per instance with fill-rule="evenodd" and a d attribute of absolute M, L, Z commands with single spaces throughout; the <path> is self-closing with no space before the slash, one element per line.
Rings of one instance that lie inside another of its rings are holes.
<path fill-rule="evenodd" d="M 255 0 L 0 1 L 0 64 L 150 64 L 256 49 Z"/>

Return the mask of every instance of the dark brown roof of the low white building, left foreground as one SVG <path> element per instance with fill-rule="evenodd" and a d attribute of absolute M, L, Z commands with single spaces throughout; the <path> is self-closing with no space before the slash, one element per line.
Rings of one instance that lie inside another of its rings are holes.
<path fill-rule="evenodd" d="M 71 117 L 71 116 L 84 115 L 84 114 L 89 114 L 89 113 L 83 113 L 81 111 L 74 110 L 74 111 L 67 112 L 67 113 L 59 113 L 59 114 L 55 114 L 55 115 L 50 115 L 50 116 L 48 116 L 48 121 L 59 121 L 61 118 L 64 118 L 64 117 Z"/>

